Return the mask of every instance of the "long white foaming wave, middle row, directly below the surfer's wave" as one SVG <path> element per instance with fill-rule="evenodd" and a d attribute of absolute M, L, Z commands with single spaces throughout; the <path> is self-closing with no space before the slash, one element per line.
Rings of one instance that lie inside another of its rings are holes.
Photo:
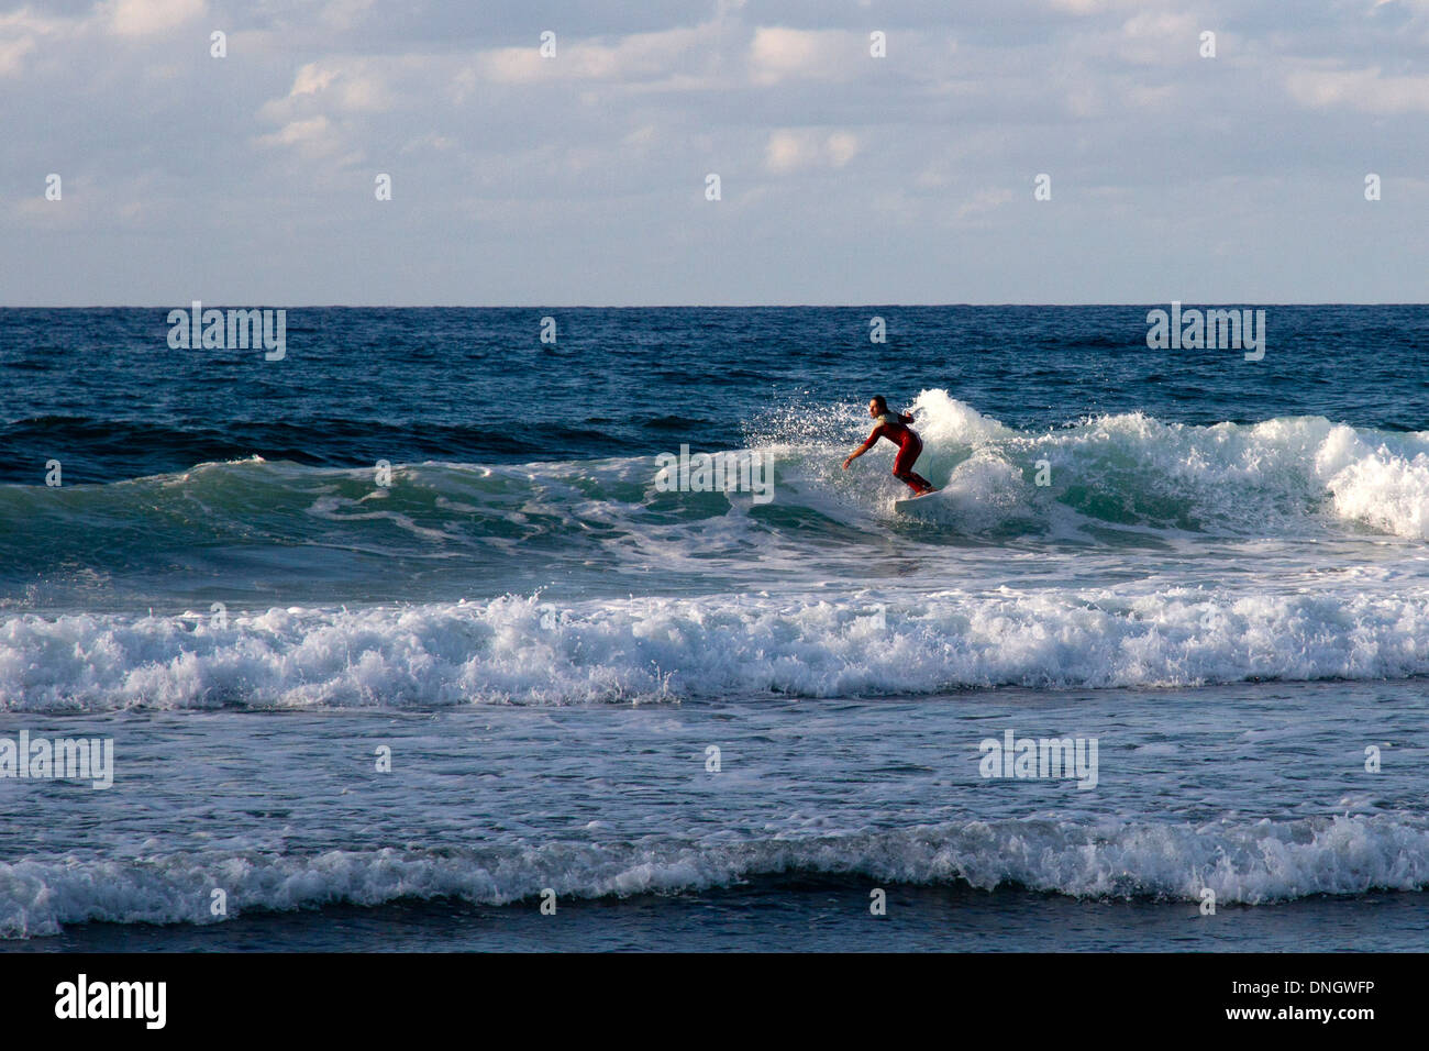
<path fill-rule="evenodd" d="M 360 611 L 11 616 L 0 706 L 449 706 L 730 694 L 1429 675 L 1429 595 L 1172 588 L 819 598 L 507 596 Z"/>

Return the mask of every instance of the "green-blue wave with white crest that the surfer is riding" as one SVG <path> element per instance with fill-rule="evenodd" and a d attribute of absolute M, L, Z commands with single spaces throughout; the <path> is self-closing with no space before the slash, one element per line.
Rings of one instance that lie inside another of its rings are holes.
<path fill-rule="evenodd" d="M 290 462 L 203 463 L 110 485 L 0 486 L 0 579 L 173 565 L 173 552 L 230 546 L 366 548 L 487 565 L 583 555 L 647 559 L 654 541 L 697 548 L 714 519 L 737 543 L 797 535 L 839 543 L 925 526 L 919 543 L 1157 542 L 1167 533 L 1223 538 L 1332 535 L 1429 539 L 1429 432 L 1378 432 L 1320 416 L 1192 426 L 1143 413 L 1026 432 L 946 390 L 917 398 L 919 470 L 943 493 L 895 516 L 907 490 L 890 450 L 842 472 L 867 420 L 829 406 L 786 408 L 747 428 L 746 450 L 773 462 L 773 502 L 656 486 L 656 456 L 514 465 Z M 717 452 L 710 449 L 709 452 Z M 683 535 L 679 528 L 684 528 Z M 164 562 L 163 559 L 169 559 Z M 181 561 L 181 559 L 177 559 Z"/>

